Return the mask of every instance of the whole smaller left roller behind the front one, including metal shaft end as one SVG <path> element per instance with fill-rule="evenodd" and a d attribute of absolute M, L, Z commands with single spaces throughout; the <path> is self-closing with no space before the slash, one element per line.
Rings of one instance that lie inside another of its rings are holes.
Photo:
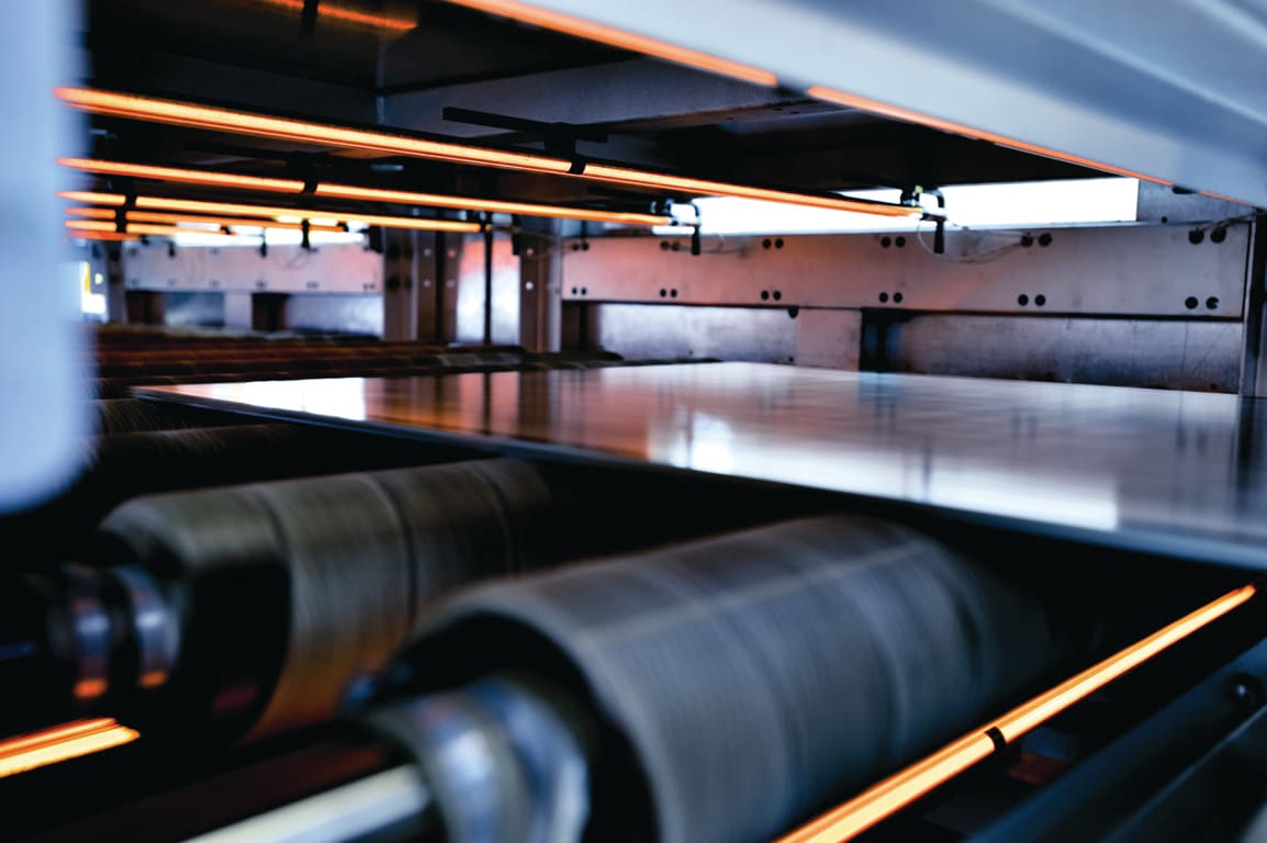
<path fill-rule="evenodd" d="M 372 690 L 437 597 L 645 547 L 693 520 L 689 482 L 611 480 L 503 458 L 134 497 L 100 523 L 73 590 L 61 567 L 24 575 L 23 594 L 43 609 L 5 633 L 16 643 L 0 652 L 24 656 L 0 658 L 0 681 L 33 685 L 46 723 L 54 711 L 125 713 L 147 732 L 200 723 L 207 740 L 226 740 L 328 719 L 348 694 Z M 718 491 L 725 516 L 706 520 L 773 511 L 737 495 Z M 103 608 L 91 640 L 72 634 L 86 611 L 68 605 L 73 595 Z M 41 643 L 52 640 L 65 643 Z M 103 648 L 104 666 L 87 676 L 81 667 L 101 665 Z"/>

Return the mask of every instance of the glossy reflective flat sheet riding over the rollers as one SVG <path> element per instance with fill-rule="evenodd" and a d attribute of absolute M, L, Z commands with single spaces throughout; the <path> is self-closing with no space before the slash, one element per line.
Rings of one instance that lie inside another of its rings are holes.
<path fill-rule="evenodd" d="M 142 394 L 837 490 L 1267 567 L 1267 405 L 1232 395 L 754 363 Z"/>

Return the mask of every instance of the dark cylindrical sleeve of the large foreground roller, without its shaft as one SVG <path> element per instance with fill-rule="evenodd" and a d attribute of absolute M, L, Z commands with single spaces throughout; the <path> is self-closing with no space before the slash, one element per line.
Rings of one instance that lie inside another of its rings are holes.
<path fill-rule="evenodd" d="M 397 692 L 549 676 L 608 734 L 595 815 L 645 796 L 604 837 L 731 843 L 957 737 L 1053 648 L 1036 599 L 921 534 L 825 516 L 468 590 L 394 672 Z"/>

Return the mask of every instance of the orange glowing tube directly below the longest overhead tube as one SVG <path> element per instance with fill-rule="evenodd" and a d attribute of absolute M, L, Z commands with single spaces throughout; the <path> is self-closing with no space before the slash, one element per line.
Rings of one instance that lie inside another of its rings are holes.
<path fill-rule="evenodd" d="M 304 182 L 289 178 L 261 178 L 239 176 L 229 172 L 208 170 L 186 170 L 182 167 L 156 167 L 96 158 L 58 158 L 57 163 L 81 172 L 94 172 L 104 176 L 129 176 L 133 178 L 152 178 L 185 185 L 213 185 L 217 187 L 237 187 L 243 190 L 267 190 L 283 194 L 302 194 Z M 620 223 L 625 225 L 669 225 L 672 216 L 663 214 L 639 214 L 628 211 L 606 211 L 589 208 L 568 208 L 563 205 L 540 205 L 536 203 L 512 203 L 495 199 L 473 199 L 469 196 L 447 196 L 442 194 L 418 194 L 400 190 L 378 190 L 374 187 L 355 187 L 352 185 L 317 184 L 315 196 L 337 199 L 360 199 L 366 201 L 397 203 L 402 205 L 423 205 L 431 208 L 452 208 L 456 210 L 480 210 L 494 214 L 519 214 L 523 216 L 552 216 L 559 219 L 578 219 L 593 223 Z"/>

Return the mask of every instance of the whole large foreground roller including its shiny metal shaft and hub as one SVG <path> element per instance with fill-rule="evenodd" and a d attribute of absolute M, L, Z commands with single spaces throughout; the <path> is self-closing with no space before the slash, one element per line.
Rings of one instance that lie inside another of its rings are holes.
<path fill-rule="evenodd" d="M 856 516 L 532 573 L 435 608 L 318 733 L 370 749 L 356 777 L 195 821 L 189 789 L 151 791 L 37 839 L 768 840 L 1064 667 L 1060 620 L 990 563 Z"/>

